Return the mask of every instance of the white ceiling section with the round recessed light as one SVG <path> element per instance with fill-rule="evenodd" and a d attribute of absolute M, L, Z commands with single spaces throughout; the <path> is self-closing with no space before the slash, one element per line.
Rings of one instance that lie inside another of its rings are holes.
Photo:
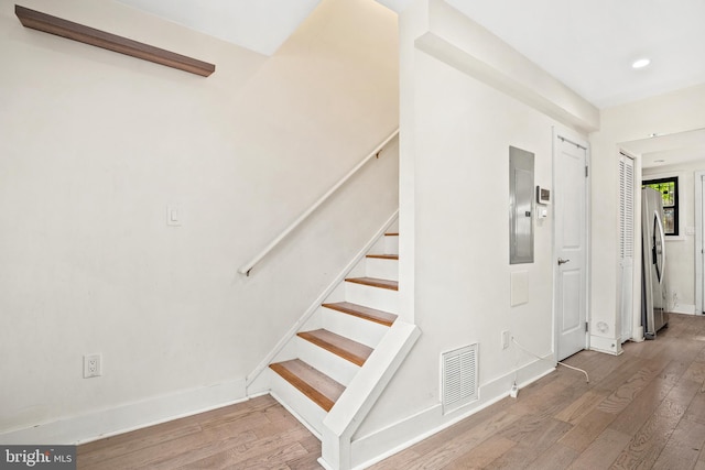
<path fill-rule="evenodd" d="M 447 1 L 598 108 L 705 81 L 703 0 Z"/>

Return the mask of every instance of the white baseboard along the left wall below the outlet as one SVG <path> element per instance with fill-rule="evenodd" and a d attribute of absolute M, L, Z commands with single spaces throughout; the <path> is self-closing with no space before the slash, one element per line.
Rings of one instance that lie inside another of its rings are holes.
<path fill-rule="evenodd" d="M 0 433 L 3 445 L 77 445 L 247 401 L 245 380 Z"/>

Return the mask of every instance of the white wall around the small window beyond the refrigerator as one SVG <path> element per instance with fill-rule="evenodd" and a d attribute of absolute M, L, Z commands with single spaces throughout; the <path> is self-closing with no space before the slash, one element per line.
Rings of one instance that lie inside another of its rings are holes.
<path fill-rule="evenodd" d="M 695 172 L 704 171 L 705 162 L 687 162 L 679 165 L 643 168 L 643 179 L 679 177 L 680 234 L 666 237 L 666 280 L 672 311 L 695 311 Z"/>

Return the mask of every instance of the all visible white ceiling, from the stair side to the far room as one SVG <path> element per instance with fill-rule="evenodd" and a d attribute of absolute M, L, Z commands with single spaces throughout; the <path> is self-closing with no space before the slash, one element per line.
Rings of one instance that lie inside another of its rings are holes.
<path fill-rule="evenodd" d="M 321 0 L 118 1 L 271 55 Z M 401 12 L 413 0 L 377 1 Z M 598 108 L 705 83 L 705 0 L 446 1 Z M 651 64 L 633 69 L 642 57 Z M 685 149 L 702 157 L 705 132 L 687 139 L 647 140 L 632 151 L 662 164 L 695 157 Z"/>

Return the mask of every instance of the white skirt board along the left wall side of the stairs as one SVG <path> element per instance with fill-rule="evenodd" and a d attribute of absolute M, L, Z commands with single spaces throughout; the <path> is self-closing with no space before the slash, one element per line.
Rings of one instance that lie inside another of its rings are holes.
<path fill-rule="evenodd" d="M 384 222 L 380 230 L 372 237 L 368 243 L 356 254 L 356 256 L 340 271 L 340 273 L 333 280 L 333 282 L 326 287 L 321 295 L 311 304 L 311 306 L 304 311 L 304 314 L 292 325 L 292 327 L 282 336 L 276 342 L 274 348 L 260 361 L 254 370 L 248 374 L 246 379 L 246 390 L 248 396 L 254 396 L 258 394 L 269 392 L 271 387 L 272 376 L 269 373 L 263 373 L 269 370 L 269 364 L 276 362 L 278 360 L 293 359 L 295 351 L 296 334 L 304 327 L 311 327 L 317 325 L 321 320 L 321 305 L 328 300 L 336 300 L 336 293 L 340 296 L 345 295 L 345 278 L 351 273 L 356 273 L 357 270 L 361 270 L 365 264 L 365 258 L 369 252 L 379 251 L 380 243 L 383 247 L 384 232 L 397 221 L 399 217 L 399 209 L 397 209 L 391 217 Z M 361 273 L 360 273 L 361 274 Z M 339 298 L 340 300 L 343 297 Z"/>

